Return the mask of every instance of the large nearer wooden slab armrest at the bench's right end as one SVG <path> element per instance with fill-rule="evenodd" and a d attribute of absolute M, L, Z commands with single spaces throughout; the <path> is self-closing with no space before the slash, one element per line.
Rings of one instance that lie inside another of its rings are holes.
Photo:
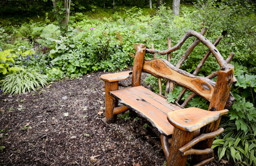
<path fill-rule="evenodd" d="M 168 121 L 176 128 L 194 132 L 206 124 L 212 123 L 220 116 L 228 114 L 228 109 L 220 111 L 207 111 L 195 107 L 180 109 L 167 114 Z"/>

